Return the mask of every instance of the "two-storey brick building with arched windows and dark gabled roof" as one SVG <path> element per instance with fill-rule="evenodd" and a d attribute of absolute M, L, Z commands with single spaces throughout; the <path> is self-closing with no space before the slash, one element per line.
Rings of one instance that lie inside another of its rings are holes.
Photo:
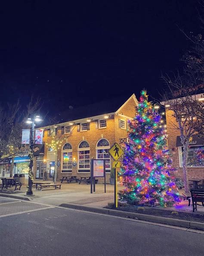
<path fill-rule="evenodd" d="M 114 142 L 120 143 L 127 138 L 127 121 L 135 116 L 137 105 L 133 94 L 126 101 L 99 102 L 83 108 L 73 109 L 71 106 L 65 114 L 60 115 L 59 124 L 41 127 L 43 129 L 44 152 L 34 157 L 34 178 L 53 179 L 55 161 L 57 160 L 57 180 L 62 176 L 90 176 L 90 159 L 105 159 L 106 179 L 109 182 L 112 159 L 108 150 Z M 57 157 L 50 147 L 54 133 L 61 135 Z M 123 145 L 121 144 L 121 147 Z"/>

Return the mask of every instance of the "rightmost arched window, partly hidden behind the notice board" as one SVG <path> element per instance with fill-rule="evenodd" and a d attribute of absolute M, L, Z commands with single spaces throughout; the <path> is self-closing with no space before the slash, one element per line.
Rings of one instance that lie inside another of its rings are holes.
<path fill-rule="evenodd" d="M 111 157 L 108 153 L 110 143 L 106 139 L 100 139 L 96 144 L 96 158 L 105 160 L 105 172 L 111 171 Z"/>

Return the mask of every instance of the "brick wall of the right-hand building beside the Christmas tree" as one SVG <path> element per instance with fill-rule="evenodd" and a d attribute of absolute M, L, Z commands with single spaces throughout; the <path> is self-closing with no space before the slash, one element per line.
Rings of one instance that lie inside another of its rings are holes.
<path fill-rule="evenodd" d="M 176 168 L 175 176 L 183 179 L 182 168 L 179 166 L 179 148 L 176 147 L 176 137 L 180 135 L 176 128 L 176 118 L 173 117 L 173 111 L 166 109 L 168 147 L 172 154 L 173 168 Z M 175 151 L 172 151 L 172 148 Z M 175 153 L 175 154 L 174 154 Z M 187 167 L 189 179 L 204 179 L 204 167 Z"/>

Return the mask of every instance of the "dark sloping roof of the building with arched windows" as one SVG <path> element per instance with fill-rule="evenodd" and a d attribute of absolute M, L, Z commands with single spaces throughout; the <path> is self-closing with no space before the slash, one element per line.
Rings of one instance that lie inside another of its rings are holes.
<path fill-rule="evenodd" d="M 120 109 L 121 106 L 123 106 L 124 103 L 127 102 L 131 97 L 133 97 L 134 100 L 137 102 L 135 94 L 132 94 L 130 97 L 121 95 L 120 97 L 112 98 L 111 100 L 109 99 L 108 101 L 106 100 L 96 102 L 94 104 L 88 104 L 77 108 L 68 107 L 68 109 L 66 109 L 64 112 L 60 113 L 56 117 L 56 121 L 57 123 L 64 123 L 82 118 L 89 118 L 97 115 L 113 113 Z M 46 122 L 44 122 L 43 126 L 46 125 L 50 124 L 46 124 Z"/>

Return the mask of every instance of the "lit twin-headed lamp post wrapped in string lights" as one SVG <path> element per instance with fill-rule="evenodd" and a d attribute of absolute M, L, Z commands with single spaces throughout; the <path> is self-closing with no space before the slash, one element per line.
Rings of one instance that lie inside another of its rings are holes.
<path fill-rule="evenodd" d="M 28 188 L 26 191 L 26 195 L 33 195 L 33 191 L 32 191 L 32 186 L 33 186 L 33 147 L 34 147 L 34 135 L 35 135 L 35 122 L 40 122 L 42 121 L 40 119 L 39 115 L 36 115 L 34 118 L 28 118 L 26 123 L 27 124 L 32 124 L 32 128 L 31 128 L 31 138 L 30 138 L 30 143 L 29 143 L 29 147 L 30 147 L 30 163 L 29 163 L 29 171 L 28 171 Z"/>

